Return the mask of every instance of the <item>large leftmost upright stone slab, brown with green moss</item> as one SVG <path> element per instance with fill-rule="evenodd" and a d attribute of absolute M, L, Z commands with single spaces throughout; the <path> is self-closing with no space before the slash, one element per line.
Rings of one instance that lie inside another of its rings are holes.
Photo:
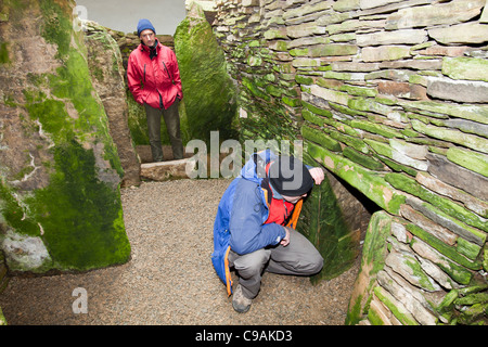
<path fill-rule="evenodd" d="M 74 29 L 73 3 L 26 0 L 2 10 L 0 241 L 7 262 L 33 272 L 126 262 L 123 170 L 91 83 L 82 31 Z M 28 247 L 25 264 L 11 261 L 15 250 L 5 249 L 13 241 L 37 245 Z"/>

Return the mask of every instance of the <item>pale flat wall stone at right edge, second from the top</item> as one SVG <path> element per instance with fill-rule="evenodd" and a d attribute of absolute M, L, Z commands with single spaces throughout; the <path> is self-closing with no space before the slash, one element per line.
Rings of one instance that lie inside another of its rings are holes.
<path fill-rule="evenodd" d="M 428 30 L 428 36 L 444 44 L 484 43 L 488 41 L 488 25 L 473 22 L 432 28 Z"/>

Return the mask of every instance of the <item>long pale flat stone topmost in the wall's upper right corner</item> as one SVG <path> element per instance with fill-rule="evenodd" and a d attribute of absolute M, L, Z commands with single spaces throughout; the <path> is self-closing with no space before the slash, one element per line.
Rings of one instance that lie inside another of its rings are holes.
<path fill-rule="evenodd" d="M 385 28 L 389 30 L 463 23 L 478 15 L 484 5 L 485 0 L 457 0 L 401 9 L 388 16 Z"/>

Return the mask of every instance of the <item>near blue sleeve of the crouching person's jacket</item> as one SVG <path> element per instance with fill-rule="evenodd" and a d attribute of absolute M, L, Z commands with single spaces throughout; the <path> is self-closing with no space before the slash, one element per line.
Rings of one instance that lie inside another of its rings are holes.
<path fill-rule="evenodd" d="M 277 223 L 262 224 L 266 208 L 260 197 L 260 188 L 246 180 L 241 183 L 234 194 L 229 229 L 231 249 L 243 255 L 277 245 L 286 232 Z"/>

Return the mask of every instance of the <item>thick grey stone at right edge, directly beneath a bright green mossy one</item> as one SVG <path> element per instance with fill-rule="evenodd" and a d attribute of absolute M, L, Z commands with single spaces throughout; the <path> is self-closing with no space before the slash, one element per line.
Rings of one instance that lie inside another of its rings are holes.
<path fill-rule="evenodd" d="M 432 77 L 427 80 L 427 94 L 458 102 L 487 103 L 488 83 Z"/>

